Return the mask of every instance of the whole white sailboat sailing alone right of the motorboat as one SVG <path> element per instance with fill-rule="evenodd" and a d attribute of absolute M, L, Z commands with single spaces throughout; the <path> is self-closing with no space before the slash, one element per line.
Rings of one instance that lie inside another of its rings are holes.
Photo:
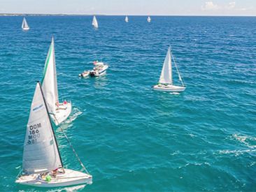
<path fill-rule="evenodd" d="M 173 58 L 173 63 L 176 67 L 179 80 L 182 84 L 182 86 L 177 86 L 173 84 L 173 74 L 172 74 L 172 67 L 171 67 L 171 48 L 169 47 L 166 57 L 164 59 L 164 65 L 162 68 L 162 73 L 159 78 L 158 84 L 153 86 L 152 88 L 157 91 L 169 91 L 169 92 L 183 92 L 185 91 L 185 84 L 183 82 L 183 79 L 181 78 L 180 72 L 178 71 L 178 67 L 176 65 L 176 62 Z"/>

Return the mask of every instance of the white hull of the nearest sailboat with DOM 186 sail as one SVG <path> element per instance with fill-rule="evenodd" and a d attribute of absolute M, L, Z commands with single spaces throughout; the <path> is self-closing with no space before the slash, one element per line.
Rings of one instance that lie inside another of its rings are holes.
<path fill-rule="evenodd" d="M 38 186 L 38 187 L 59 187 L 73 186 L 80 184 L 92 184 L 92 175 L 76 170 L 64 169 L 65 173 L 57 174 L 56 177 L 51 177 L 50 182 L 45 181 L 39 174 L 21 175 L 17 180 L 17 184 Z"/>

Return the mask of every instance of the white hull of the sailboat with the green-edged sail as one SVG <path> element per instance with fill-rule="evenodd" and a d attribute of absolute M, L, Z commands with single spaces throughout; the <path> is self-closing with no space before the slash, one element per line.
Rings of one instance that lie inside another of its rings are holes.
<path fill-rule="evenodd" d="M 66 105 L 64 103 L 59 103 L 59 108 L 56 109 L 56 114 L 50 115 L 55 122 L 55 125 L 58 126 L 63 121 L 65 121 L 71 114 L 71 110 L 71 103 L 67 102 Z"/>

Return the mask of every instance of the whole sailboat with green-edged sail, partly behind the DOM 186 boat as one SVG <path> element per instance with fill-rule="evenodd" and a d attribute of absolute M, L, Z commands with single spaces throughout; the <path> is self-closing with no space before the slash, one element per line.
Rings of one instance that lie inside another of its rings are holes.
<path fill-rule="evenodd" d="M 64 101 L 59 103 L 57 89 L 57 73 L 55 65 L 55 43 L 52 37 L 52 43 L 45 60 L 45 68 L 43 69 L 43 79 L 41 80 L 45 101 L 48 104 L 50 116 L 55 125 L 61 124 L 71 114 L 71 102 Z"/>

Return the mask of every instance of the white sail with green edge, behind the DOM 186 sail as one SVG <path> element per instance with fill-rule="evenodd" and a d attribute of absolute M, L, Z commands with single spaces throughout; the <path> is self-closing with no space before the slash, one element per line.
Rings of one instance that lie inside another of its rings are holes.
<path fill-rule="evenodd" d="M 55 45 L 52 43 L 45 60 L 45 68 L 43 69 L 43 80 L 41 81 L 45 101 L 48 109 L 52 114 L 56 113 L 56 104 L 59 103 L 57 89 L 57 74 L 55 66 Z"/>

